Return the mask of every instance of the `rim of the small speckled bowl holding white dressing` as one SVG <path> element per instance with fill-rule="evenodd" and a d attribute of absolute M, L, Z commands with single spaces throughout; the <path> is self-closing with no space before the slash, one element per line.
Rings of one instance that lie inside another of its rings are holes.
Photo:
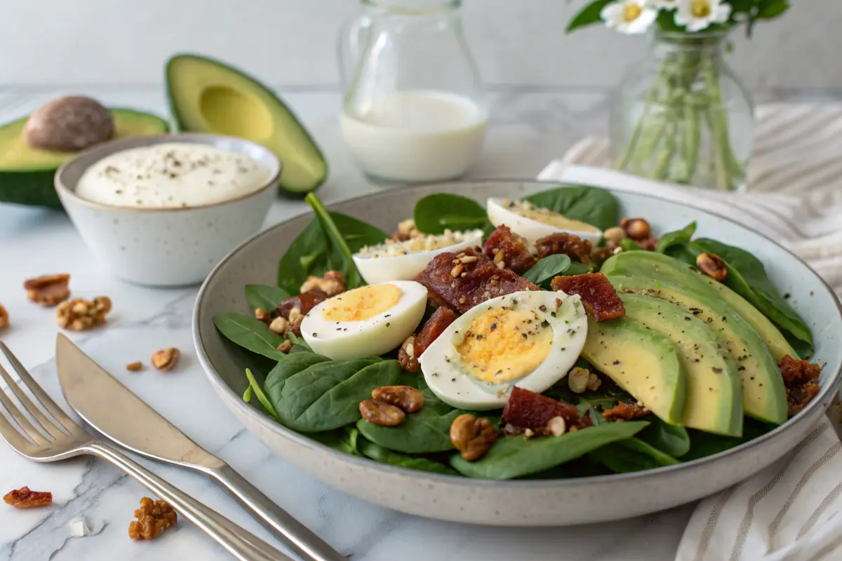
<path fill-rule="evenodd" d="M 84 157 L 93 155 L 98 156 L 95 160 L 93 160 L 90 164 L 88 164 L 88 166 L 86 166 L 83 169 L 83 172 L 87 171 L 88 167 L 93 166 L 93 164 L 102 160 L 105 156 L 110 156 L 111 154 L 115 154 L 119 151 L 122 151 L 123 146 L 125 145 L 130 145 L 125 147 L 125 150 L 130 150 L 131 148 L 155 146 L 157 144 L 166 144 L 168 142 L 179 142 L 184 139 L 194 140 L 192 144 L 215 146 L 217 148 L 218 146 L 216 146 L 216 141 L 226 140 L 229 142 L 238 143 L 242 146 L 250 146 L 252 148 L 264 151 L 266 155 L 269 156 L 269 162 L 271 163 L 269 171 L 272 174 L 266 181 L 266 183 L 249 193 L 243 193 L 242 195 L 239 195 L 235 198 L 226 198 L 222 201 L 216 201 L 216 203 L 193 204 L 186 207 L 131 207 L 95 203 L 93 201 L 89 201 L 87 198 L 80 197 L 76 194 L 75 188 L 70 188 L 64 183 L 64 175 L 67 173 L 67 170 L 74 165 L 79 165 L 78 162 Z M 191 210 L 210 209 L 213 207 L 224 206 L 226 204 L 237 203 L 247 198 L 252 198 L 258 195 L 259 193 L 263 193 L 269 188 L 274 188 L 278 184 L 278 180 L 280 179 L 280 173 L 283 171 L 283 167 L 283 164 L 278 159 L 278 156 L 275 156 L 273 151 L 269 150 L 269 148 L 263 146 L 262 144 L 259 144 L 258 142 L 254 142 L 253 140 L 239 138 L 237 136 L 214 135 L 211 133 L 161 133 L 157 135 L 146 136 L 127 136 L 125 138 L 108 140 L 96 146 L 91 146 L 86 150 L 80 151 L 70 160 L 61 164 L 61 167 L 59 167 L 56 170 L 56 175 L 53 177 L 53 185 L 56 188 L 56 193 L 58 193 L 59 198 L 69 198 L 76 204 L 82 204 L 83 206 L 87 206 L 92 209 L 120 212 L 189 212 Z M 249 238 L 249 240 L 247 241 L 250 240 L 251 238 Z"/>

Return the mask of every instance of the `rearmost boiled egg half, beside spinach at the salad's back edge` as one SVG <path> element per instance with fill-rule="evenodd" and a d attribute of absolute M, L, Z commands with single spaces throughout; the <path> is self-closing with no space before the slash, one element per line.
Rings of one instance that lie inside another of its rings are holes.
<path fill-rule="evenodd" d="M 556 232 L 574 234 L 592 243 L 602 239 L 602 230 L 599 228 L 581 220 L 571 220 L 550 209 L 542 209 L 529 201 L 489 198 L 486 210 L 488 220 L 493 225 L 507 225 L 515 234 L 524 236 L 527 246 L 533 252 L 536 251 L 536 240 Z"/>

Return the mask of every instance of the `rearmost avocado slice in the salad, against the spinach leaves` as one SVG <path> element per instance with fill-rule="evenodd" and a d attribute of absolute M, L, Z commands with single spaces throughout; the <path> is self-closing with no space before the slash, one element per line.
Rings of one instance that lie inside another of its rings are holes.
<path fill-rule="evenodd" d="M 754 328 L 754 331 L 757 331 L 766 347 L 769 347 L 772 357 L 775 357 L 776 363 L 781 362 L 781 358 L 786 355 L 798 357 L 775 324 L 749 300 L 744 299 L 724 284 L 699 273 L 695 267 L 685 262 L 654 251 L 623 251 L 606 260 L 600 271 L 607 276 L 654 278 L 694 288 L 702 293 L 706 292 L 714 299 L 723 299 Z"/>

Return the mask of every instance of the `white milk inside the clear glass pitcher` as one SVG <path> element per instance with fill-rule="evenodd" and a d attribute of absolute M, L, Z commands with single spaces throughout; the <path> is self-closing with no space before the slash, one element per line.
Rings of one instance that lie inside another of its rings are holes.
<path fill-rule="evenodd" d="M 471 99 L 436 91 L 394 92 L 373 99 L 339 126 L 363 171 L 398 182 L 459 177 L 477 159 L 488 117 Z"/>

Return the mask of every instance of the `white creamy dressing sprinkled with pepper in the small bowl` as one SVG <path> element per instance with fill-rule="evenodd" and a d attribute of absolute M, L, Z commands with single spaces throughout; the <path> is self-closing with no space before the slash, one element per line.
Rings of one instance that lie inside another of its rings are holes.
<path fill-rule="evenodd" d="M 250 156 L 168 142 L 105 156 L 79 178 L 76 193 L 109 206 L 178 209 L 239 198 L 269 179 L 269 169 Z"/>

